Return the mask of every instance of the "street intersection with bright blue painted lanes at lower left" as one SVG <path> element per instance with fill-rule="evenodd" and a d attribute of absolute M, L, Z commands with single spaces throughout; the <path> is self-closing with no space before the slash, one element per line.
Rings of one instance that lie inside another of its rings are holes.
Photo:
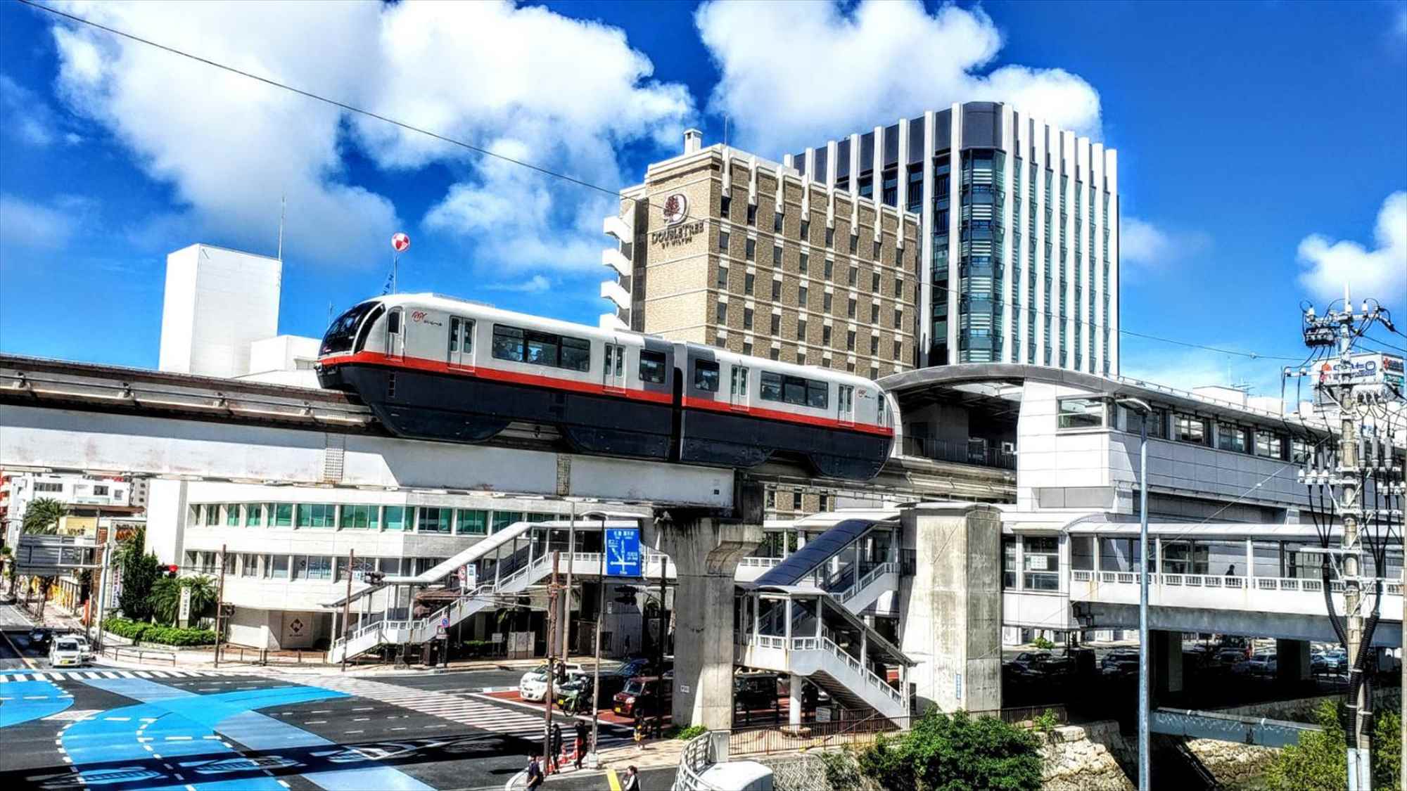
<path fill-rule="evenodd" d="M 0 671 L 0 787 L 497 790 L 540 747 L 543 722 L 478 691 L 502 677 Z M 628 739 L 602 730 L 602 746 Z"/>

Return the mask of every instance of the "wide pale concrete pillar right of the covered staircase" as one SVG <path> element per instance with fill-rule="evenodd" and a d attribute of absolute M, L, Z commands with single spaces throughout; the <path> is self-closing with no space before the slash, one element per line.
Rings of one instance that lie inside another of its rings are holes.
<path fill-rule="evenodd" d="M 917 711 L 1002 708 L 1002 518 L 989 505 L 933 502 L 902 514 L 915 574 L 899 583 L 900 649 Z"/>

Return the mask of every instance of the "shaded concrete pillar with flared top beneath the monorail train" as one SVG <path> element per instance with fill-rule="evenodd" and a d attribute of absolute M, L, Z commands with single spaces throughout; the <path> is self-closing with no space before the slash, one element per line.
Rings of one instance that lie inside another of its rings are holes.
<path fill-rule="evenodd" d="M 754 518 L 660 519 L 658 546 L 674 560 L 674 725 L 733 726 L 733 574 L 763 542 L 761 491 L 744 493 Z M 788 618 L 788 625 L 791 618 Z"/>

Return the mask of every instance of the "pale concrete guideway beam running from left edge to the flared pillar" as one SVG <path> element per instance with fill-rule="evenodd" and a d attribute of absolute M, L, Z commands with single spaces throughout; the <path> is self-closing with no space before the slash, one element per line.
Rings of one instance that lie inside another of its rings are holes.
<path fill-rule="evenodd" d="M 6 467 L 734 504 L 732 470 L 689 464 L 15 404 L 0 404 L 0 425 Z"/>

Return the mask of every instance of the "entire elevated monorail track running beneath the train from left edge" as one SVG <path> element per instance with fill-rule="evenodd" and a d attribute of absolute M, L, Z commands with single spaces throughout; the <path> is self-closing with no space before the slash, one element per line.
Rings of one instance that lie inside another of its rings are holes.
<path fill-rule="evenodd" d="M 905 500 L 1009 501 L 1007 470 L 891 459 L 871 481 L 774 459 L 747 470 L 590 456 L 553 426 L 478 445 L 393 436 L 349 396 L 0 355 L 0 466 L 189 480 L 505 491 L 732 511 L 747 483 Z"/>

